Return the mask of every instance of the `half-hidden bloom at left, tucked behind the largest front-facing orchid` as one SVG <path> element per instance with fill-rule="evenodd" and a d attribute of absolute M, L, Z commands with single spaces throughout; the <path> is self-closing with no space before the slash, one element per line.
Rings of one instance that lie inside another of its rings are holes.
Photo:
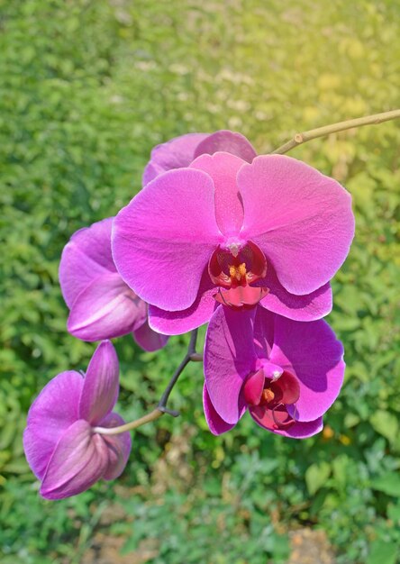
<path fill-rule="evenodd" d="M 130 332 L 144 350 L 159 350 L 168 337 L 148 323 L 148 305 L 118 274 L 111 254 L 113 218 L 74 233 L 59 264 L 59 283 L 70 309 L 68 332 L 102 341 Z"/>

